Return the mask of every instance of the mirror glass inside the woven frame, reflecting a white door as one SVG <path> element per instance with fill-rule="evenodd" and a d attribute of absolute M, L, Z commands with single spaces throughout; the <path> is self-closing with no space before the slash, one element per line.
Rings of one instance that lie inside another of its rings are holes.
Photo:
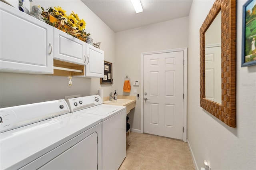
<path fill-rule="evenodd" d="M 205 98 L 221 104 L 221 11 L 204 35 Z"/>

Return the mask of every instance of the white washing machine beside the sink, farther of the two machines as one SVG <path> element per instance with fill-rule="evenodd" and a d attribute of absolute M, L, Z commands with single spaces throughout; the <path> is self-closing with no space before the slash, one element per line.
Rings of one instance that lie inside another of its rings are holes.
<path fill-rule="evenodd" d="M 126 107 L 104 105 L 99 95 L 66 100 L 70 112 L 102 121 L 102 170 L 118 170 L 126 157 Z"/>

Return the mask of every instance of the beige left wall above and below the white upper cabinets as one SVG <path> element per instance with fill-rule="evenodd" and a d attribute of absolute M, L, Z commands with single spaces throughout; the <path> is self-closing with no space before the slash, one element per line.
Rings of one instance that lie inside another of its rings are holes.
<path fill-rule="evenodd" d="M 102 42 L 100 49 L 104 51 L 104 59 L 115 66 L 115 33 L 80 0 L 33 0 L 32 4 L 40 5 L 45 10 L 61 6 L 66 14 L 72 11 L 77 13 L 86 21 L 86 32 L 91 34 L 94 42 Z M 21 45 L 26 45 L 26 41 Z M 104 96 L 112 91 L 112 85 L 100 85 L 100 78 L 73 77 L 71 88 L 68 81 L 67 77 L 61 76 L 0 73 L 0 107 L 64 99 L 76 94 L 95 95 L 100 87 L 104 89 Z"/>

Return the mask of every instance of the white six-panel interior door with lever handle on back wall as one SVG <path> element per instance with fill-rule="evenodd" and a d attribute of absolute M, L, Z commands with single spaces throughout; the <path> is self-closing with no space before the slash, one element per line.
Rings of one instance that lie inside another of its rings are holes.
<path fill-rule="evenodd" d="M 183 53 L 174 51 L 144 55 L 145 133 L 183 138 Z"/>

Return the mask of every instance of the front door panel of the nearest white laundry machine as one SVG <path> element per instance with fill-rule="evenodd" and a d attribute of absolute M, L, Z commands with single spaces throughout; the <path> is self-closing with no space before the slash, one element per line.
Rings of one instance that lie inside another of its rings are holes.
<path fill-rule="evenodd" d="M 97 169 L 97 133 L 84 138 L 39 170 L 96 170 Z"/>

